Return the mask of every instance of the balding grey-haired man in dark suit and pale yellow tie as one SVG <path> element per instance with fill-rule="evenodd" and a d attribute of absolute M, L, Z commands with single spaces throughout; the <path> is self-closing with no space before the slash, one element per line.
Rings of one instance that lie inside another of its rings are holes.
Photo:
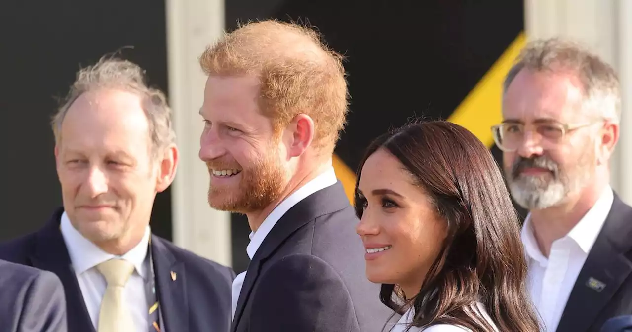
<path fill-rule="evenodd" d="M 155 195 L 178 165 L 171 109 L 142 69 L 81 70 L 52 121 L 63 208 L 0 258 L 56 273 L 68 331 L 228 331 L 228 267 L 152 235 Z"/>

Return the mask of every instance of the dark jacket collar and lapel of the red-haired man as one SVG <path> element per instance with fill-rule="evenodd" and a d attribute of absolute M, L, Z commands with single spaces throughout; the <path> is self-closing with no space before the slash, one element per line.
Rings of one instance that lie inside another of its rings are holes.
<path fill-rule="evenodd" d="M 241 286 L 239 300 L 237 301 L 235 314 L 233 317 L 232 331 L 236 331 L 243 315 L 250 293 L 252 293 L 262 265 L 283 244 L 296 230 L 305 226 L 318 216 L 324 216 L 335 211 L 349 207 L 349 199 L 344 194 L 344 189 L 340 181 L 335 185 L 324 188 L 309 195 L 298 202 L 286 212 L 274 225 L 270 233 L 261 243 L 257 253 L 248 264 L 248 273 Z"/>

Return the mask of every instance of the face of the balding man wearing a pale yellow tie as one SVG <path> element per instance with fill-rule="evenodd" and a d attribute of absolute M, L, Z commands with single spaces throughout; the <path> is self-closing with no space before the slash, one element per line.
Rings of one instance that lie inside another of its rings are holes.
<path fill-rule="evenodd" d="M 173 155 L 152 157 L 140 97 L 123 90 L 85 92 L 68 109 L 60 134 L 57 172 L 76 230 L 102 247 L 140 240 L 175 163 Z"/>

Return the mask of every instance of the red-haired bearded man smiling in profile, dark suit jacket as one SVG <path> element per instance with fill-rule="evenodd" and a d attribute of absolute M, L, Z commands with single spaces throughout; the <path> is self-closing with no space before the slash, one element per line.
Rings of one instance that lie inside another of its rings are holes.
<path fill-rule="evenodd" d="M 341 57 L 310 28 L 250 23 L 200 56 L 209 204 L 245 214 L 233 331 L 381 331 L 358 219 L 332 168 L 347 113 Z"/>

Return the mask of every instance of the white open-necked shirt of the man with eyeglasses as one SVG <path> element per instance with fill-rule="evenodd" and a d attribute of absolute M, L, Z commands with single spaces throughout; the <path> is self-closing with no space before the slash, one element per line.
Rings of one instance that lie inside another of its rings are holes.
<path fill-rule="evenodd" d="M 610 212 L 612 200 L 612 188 L 607 187 L 580 222 L 565 237 L 551 244 L 548 258 L 535 240 L 530 215 L 526 217 L 521 238 L 529 267 L 528 290 L 546 331 L 556 331 L 581 267 Z"/>

